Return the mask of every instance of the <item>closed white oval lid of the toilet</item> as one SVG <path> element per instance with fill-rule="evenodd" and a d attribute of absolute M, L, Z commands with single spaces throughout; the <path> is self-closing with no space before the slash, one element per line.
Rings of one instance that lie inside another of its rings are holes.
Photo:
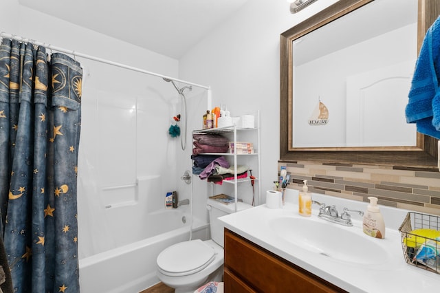
<path fill-rule="evenodd" d="M 157 266 L 168 276 L 186 276 L 203 270 L 214 258 L 214 248 L 197 239 L 174 244 L 160 252 Z"/>

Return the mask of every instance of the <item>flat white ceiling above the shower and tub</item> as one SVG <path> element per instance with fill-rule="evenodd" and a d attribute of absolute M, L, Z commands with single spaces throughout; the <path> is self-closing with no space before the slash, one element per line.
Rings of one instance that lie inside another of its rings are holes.
<path fill-rule="evenodd" d="M 81 27 L 179 59 L 248 0 L 19 0 Z"/>

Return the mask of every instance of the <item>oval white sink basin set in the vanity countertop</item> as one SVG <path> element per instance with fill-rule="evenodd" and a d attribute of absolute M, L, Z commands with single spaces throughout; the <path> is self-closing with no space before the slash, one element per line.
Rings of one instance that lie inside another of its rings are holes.
<path fill-rule="evenodd" d="M 380 264 L 388 259 L 388 252 L 375 243 L 385 240 L 356 233 L 359 227 L 297 217 L 272 219 L 269 225 L 281 239 L 331 259 L 357 264 Z"/>

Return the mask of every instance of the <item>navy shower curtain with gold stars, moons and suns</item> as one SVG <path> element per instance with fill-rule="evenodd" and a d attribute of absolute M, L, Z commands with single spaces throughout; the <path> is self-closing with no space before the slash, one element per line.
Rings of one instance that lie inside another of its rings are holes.
<path fill-rule="evenodd" d="M 45 47 L 1 43 L 0 225 L 14 292 L 80 291 L 76 176 L 83 69 L 65 54 L 48 59 Z"/>

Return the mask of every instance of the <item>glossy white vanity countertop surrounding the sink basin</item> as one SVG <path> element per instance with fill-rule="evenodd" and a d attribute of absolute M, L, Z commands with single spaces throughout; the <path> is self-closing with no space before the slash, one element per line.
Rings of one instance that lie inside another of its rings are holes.
<path fill-rule="evenodd" d="M 321 195 L 322 196 L 322 195 Z M 312 195 L 318 200 L 320 195 Z M 385 218 L 386 235 L 385 239 L 375 239 L 362 232 L 362 217 L 352 216 L 353 226 L 344 227 L 344 229 L 353 229 L 356 234 L 366 237 L 366 241 L 375 241 L 378 245 L 386 248 L 389 252 L 388 259 L 379 264 L 358 264 L 332 259 L 324 255 L 311 252 L 305 248 L 289 243 L 270 228 L 270 220 L 277 217 L 299 217 L 309 219 L 310 221 L 322 221 L 328 225 L 337 225 L 324 221 L 317 217 L 318 210 L 312 211 L 309 218 L 298 215 L 298 206 L 295 203 L 295 196 L 290 202 L 286 202 L 282 209 L 270 209 L 265 205 L 243 210 L 238 213 L 226 215 L 219 219 L 223 222 L 225 228 L 236 232 L 257 245 L 270 250 L 283 259 L 294 263 L 295 265 L 308 270 L 309 272 L 320 276 L 320 278 L 329 281 L 341 287 L 348 292 L 439 292 L 440 274 L 429 272 L 414 265 L 406 263 L 401 247 L 400 233 L 395 227 L 395 223 L 401 223 L 406 215 L 405 210 L 388 208 L 380 206 Z M 332 197 L 323 197 L 327 200 L 327 205 L 334 204 Z M 322 199 L 321 199 L 322 200 Z M 348 208 L 366 208 L 366 203 L 353 202 L 346 199 L 337 199 L 337 202 L 343 203 Z M 347 204 L 347 205 L 346 205 Z M 354 205 L 354 207 L 353 207 Z M 338 207 L 338 210 L 342 208 Z M 388 213 L 389 212 L 389 213 Z M 394 219 L 391 220 L 391 217 Z M 401 218 L 400 218 L 401 217 Z M 387 224 L 387 219 L 390 225 Z M 393 224 L 391 225 L 391 223 Z M 393 226 L 393 228 L 388 228 Z M 316 231 L 319 233 L 319 231 Z M 298 236 L 300 237 L 300 235 Z M 350 239 L 340 239 L 340 241 L 350 241 Z M 361 249 L 359 251 L 362 252 Z"/>

